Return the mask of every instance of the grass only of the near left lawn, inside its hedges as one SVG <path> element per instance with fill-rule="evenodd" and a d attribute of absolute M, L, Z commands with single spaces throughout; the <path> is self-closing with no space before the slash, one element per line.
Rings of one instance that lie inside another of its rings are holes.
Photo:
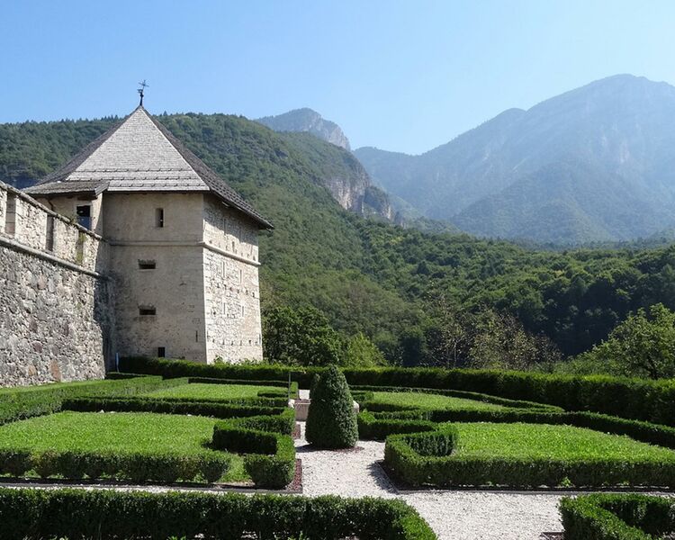
<path fill-rule="evenodd" d="M 217 420 L 146 412 L 58 412 L 0 426 L 0 449 L 31 452 L 166 452 L 222 454 L 205 445 Z M 225 480 L 248 480 L 240 456 L 232 455 Z"/>

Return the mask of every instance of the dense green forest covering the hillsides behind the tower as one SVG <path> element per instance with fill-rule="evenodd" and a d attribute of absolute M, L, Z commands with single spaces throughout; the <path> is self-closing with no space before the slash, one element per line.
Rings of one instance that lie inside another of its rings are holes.
<path fill-rule="evenodd" d="M 365 220 L 343 211 L 322 184 L 344 171 L 346 150 L 242 117 L 157 118 L 275 223 L 261 238 L 266 313 L 313 307 L 339 334 L 363 333 L 392 362 L 443 362 L 448 314 L 488 313 L 485 328 L 507 314 L 573 356 L 632 311 L 657 302 L 675 308 L 675 247 L 553 252 Z M 0 125 L 0 180 L 30 184 L 113 121 Z M 458 364 L 464 353 L 460 347 Z"/>

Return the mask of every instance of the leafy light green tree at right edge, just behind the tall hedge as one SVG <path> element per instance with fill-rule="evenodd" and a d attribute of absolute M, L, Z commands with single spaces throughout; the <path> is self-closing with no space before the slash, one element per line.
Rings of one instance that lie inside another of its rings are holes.
<path fill-rule="evenodd" d="M 662 303 L 630 314 L 607 340 L 575 359 L 607 373 L 659 379 L 675 376 L 675 313 Z"/>

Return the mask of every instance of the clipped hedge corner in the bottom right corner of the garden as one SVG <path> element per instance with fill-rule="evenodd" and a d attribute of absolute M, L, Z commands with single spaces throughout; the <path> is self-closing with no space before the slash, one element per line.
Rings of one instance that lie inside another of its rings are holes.
<path fill-rule="evenodd" d="M 675 530 L 672 500 L 649 495 L 584 495 L 561 500 L 566 540 L 652 540 Z"/>

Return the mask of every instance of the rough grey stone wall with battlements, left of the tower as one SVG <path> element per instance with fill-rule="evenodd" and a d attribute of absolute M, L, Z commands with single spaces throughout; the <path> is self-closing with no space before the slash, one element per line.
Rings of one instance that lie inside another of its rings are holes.
<path fill-rule="evenodd" d="M 0 386 L 103 378 L 106 257 L 100 237 L 0 183 Z"/>

